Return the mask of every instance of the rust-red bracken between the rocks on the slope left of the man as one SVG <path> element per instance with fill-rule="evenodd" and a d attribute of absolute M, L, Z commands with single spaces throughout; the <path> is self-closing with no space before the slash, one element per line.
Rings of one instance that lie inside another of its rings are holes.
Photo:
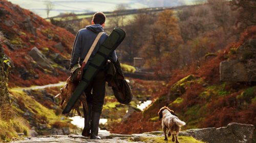
<path fill-rule="evenodd" d="M 5 46 L 5 53 L 10 56 L 15 66 L 13 73 L 10 75 L 9 87 L 28 87 L 35 84 L 44 85 L 65 81 L 67 79 L 67 74 L 59 71 L 58 69 L 55 69 L 59 73 L 59 76 L 57 77 L 52 74 L 46 74 L 37 69 L 33 69 L 30 63 L 32 58 L 28 55 L 28 52 L 36 46 L 39 50 L 49 48 L 51 52 L 59 53 L 66 57 L 67 53 L 71 53 L 71 47 L 75 36 L 61 27 L 52 25 L 50 22 L 39 17 L 33 12 L 22 9 L 6 0 L 3 0 L 2 3 L 0 3 L 0 7 L 7 11 L 6 16 L 2 16 L 1 20 L 12 21 L 13 23 L 12 26 L 7 26 L 5 25 L 5 22 L 1 22 L 1 31 L 3 31 L 10 41 L 15 38 L 20 38 L 22 42 L 22 44 L 17 45 L 14 50 L 10 50 Z M 36 29 L 36 36 L 24 28 L 23 21 L 32 21 L 31 23 Z M 49 38 L 49 35 L 52 39 Z M 65 46 L 63 52 L 60 52 L 57 48 L 53 47 L 53 45 L 58 42 L 61 42 Z M 17 69 L 27 69 L 29 71 L 34 70 L 36 74 L 39 75 L 39 79 L 32 78 L 24 80 L 20 77 L 20 73 L 18 73 Z"/>

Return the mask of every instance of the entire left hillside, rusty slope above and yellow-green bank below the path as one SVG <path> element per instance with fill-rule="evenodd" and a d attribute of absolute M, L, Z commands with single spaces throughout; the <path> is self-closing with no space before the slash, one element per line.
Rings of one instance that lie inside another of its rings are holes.
<path fill-rule="evenodd" d="M 0 95 L 1 101 L 7 102 L 0 103 L 0 142 L 28 135 L 76 131 L 77 127 L 70 123 L 71 120 L 61 115 L 59 101 L 54 99 L 59 88 L 53 90 L 56 91 L 54 94 L 49 93 L 52 90 L 23 90 L 23 87 L 67 79 L 75 36 L 8 1 L 0 2 L 0 19 L 0 61 L 1 64 L 11 63 L 9 82 L 1 83 L 0 87 L 1 91 L 4 89 L 10 93 L 7 93 L 8 100 Z M 3 59 L 2 48 L 11 62 Z M 1 80 L 4 79 L 1 76 Z"/>

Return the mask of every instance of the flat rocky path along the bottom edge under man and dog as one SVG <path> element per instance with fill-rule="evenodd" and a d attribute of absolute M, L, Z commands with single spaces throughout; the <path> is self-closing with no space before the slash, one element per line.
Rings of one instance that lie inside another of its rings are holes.
<path fill-rule="evenodd" d="M 245 142 L 251 143 L 253 136 L 253 125 L 240 124 L 240 123 L 229 123 L 227 127 L 221 128 L 204 128 L 204 129 L 190 129 L 181 131 L 179 133 L 180 142 L 186 143 L 237 143 Z M 81 135 L 51 135 L 51 136 L 37 136 L 37 137 L 26 137 L 24 140 L 14 142 L 89 142 L 89 143 L 109 143 L 109 142 L 166 142 L 163 140 L 162 131 L 154 131 L 142 134 L 132 135 L 121 135 L 121 134 L 110 134 L 108 132 L 100 132 L 101 140 L 89 139 Z M 168 137 L 171 140 L 170 137 Z"/>

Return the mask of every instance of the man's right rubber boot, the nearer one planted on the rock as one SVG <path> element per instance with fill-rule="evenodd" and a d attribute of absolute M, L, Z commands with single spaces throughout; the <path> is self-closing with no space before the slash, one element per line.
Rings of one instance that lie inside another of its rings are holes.
<path fill-rule="evenodd" d="M 100 112 L 92 112 L 92 122 L 91 122 L 91 139 L 101 139 L 98 136 L 99 132 L 99 119 L 100 119 Z"/>

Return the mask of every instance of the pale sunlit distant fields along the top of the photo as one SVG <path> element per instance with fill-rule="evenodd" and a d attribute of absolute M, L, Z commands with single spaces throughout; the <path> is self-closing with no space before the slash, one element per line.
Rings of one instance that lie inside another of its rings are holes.
<path fill-rule="evenodd" d="M 22 8 L 29 9 L 41 17 L 46 18 L 45 0 L 8 0 Z M 54 9 L 50 11 L 49 17 L 56 16 L 60 13 L 74 12 L 87 13 L 96 11 L 113 11 L 119 4 L 129 6 L 129 9 L 139 9 L 146 7 L 157 7 L 158 5 L 175 6 L 178 3 L 189 4 L 196 0 L 51 0 Z M 159 2 L 159 3 L 158 3 Z"/>

